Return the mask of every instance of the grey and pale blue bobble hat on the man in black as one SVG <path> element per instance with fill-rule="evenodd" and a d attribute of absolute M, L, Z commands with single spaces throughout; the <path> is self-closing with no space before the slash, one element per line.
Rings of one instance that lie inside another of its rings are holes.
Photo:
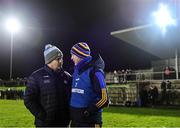
<path fill-rule="evenodd" d="M 57 48 L 56 46 L 47 44 L 45 46 L 45 50 L 44 50 L 45 64 L 49 64 L 51 61 L 53 61 L 54 59 L 56 59 L 58 57 L 59 58 L 63 57 L 63 53 L 61 52 L 61 50 L 59 48 Z"/>

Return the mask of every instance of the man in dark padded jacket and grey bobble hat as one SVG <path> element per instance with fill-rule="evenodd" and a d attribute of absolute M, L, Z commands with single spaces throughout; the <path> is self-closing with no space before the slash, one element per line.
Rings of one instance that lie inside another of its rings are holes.
<path fill-rule="evenodd" d="M 24 104 L 35 117 L 36 127 L 67 127 L 71 76 L 62 69 L 63 53 L 56 46 L 46 45 L 45 66 L 28 79 Z"/>

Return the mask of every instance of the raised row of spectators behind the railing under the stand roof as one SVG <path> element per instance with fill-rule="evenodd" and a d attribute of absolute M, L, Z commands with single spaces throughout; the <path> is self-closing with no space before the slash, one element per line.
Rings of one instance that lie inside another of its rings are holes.
<path fill-rule="evenodd" d="M 113 72 L 106 72 L 107 84 L 126 84 L 128 81 L 169 79 L 176 79 L 176 72 L 174 68 L 168 66 L 165 67 L 161 72 L 154 72 L 152 69 L 122 69 L 114 70 Z"/>

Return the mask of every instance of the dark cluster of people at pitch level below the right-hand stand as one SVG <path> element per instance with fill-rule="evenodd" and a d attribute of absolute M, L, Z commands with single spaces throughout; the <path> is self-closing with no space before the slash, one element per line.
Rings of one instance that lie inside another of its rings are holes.
<path fill-rule="evenodd" d="M 141 106 L 173 105 L 173 99 L 176 98 L 174 91 L 169 80 L 162 81 L 159 88 L 146 84 L 140 85 Z"/>

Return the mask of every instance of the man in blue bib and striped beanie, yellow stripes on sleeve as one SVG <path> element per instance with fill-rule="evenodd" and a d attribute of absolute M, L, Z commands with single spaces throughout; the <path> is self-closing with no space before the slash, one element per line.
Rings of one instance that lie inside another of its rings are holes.
<path fill-rule="evenodd" d="M 74 74 L 71 90 L 70 116 L 72 127 L 101 127 L 102 108 L 108 105 L 104 78 L 104 61 L 92 59 L 85 42 L 71 48 Z"/>

